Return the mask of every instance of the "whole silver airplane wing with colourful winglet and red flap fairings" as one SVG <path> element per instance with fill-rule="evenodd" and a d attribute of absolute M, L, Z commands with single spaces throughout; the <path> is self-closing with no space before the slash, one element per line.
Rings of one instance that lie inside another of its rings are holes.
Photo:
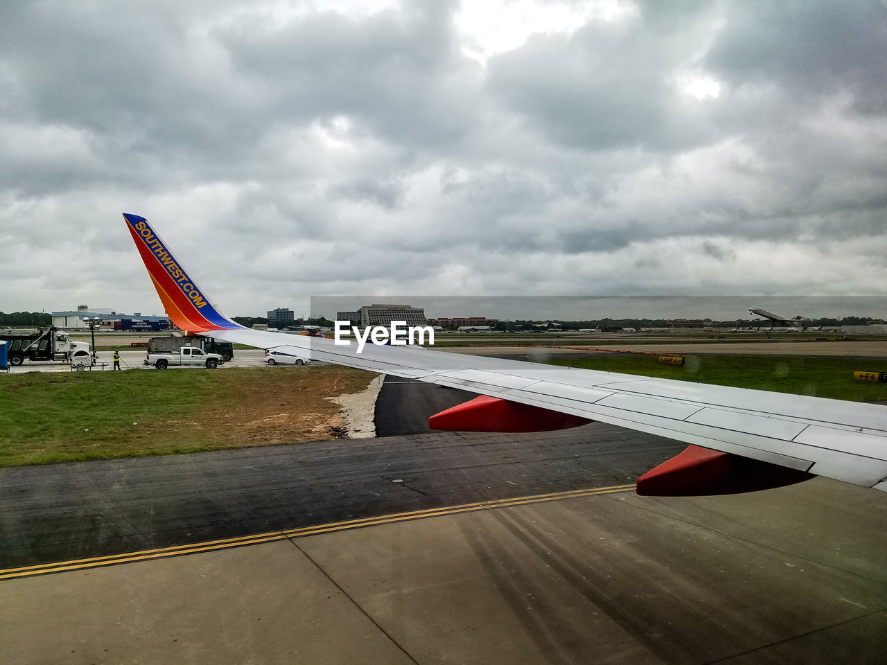
<path fill-rule="evenodd" d="M 638 479 L 638 494 L 701 496 L 814 475 L 887 491 L 887 407 L 409 346 L 354 345 L 245 328 L 225 317 L 144 217 L 124 220 L 169 318 L 189 334 L 480 395 L 434 429 L 543 432 L 600 420 L 689 443 Z M 757 309 L 757 308 L 756 308 Z"/>

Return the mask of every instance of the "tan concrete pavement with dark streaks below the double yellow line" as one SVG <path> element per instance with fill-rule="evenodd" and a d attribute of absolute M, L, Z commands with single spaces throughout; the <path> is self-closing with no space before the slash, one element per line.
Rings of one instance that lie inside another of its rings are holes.
<path fill-rule="evenodd" d="M 887 497 L 391 520 L 0 583 L 4 663 L 882 663 Z"/>

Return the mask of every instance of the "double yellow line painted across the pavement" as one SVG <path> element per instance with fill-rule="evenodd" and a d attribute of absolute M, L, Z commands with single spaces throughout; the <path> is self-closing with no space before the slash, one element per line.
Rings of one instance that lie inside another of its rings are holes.
<path fill-rule="evenodd" d="M 161 547 L 155 550 L 143 550 L 142 552 L 130 552 L 128 554 L 111 554 L 104 557 L 91 557 L 90 559 L 75 559 L 72 561 L 59 561 L 58 563 L 41 564 L 38 566 L 25 566 L 19 568 L 0 569 L 0 580 L 14 579 L 17 577 L 29 577 L 32 575 L 48 575 L 50 573 L 62 573 L 68 570 L 82 570 L 83 568 L 97 568 L 114 566 L 121 563 L 134 563 L 136 561 L 149 561 L 151 559 L 164 559 L 177 557 L 184 554 L 197 554 L 200 552 L 213 552 L 227 550 L 243 545 L 255 545 L 273 543 L 287 538 L 313 536 L 334 531 L 343 531 L 349 528 L 372 527 L 381 524 L 394 524 L 406 520 L 421 520 L 428 517 L 441 517 L 443 515 L 455 515 L 460 512 L 475 512 L 489 510 L 491 508 L 507 508 L 515 505 L 538 504 L 544 501 L 557 501 L 560 499 L 592 497 L 599 494 L 614 494 L 627 492 L 634 489 L 634 485 L 614 485 L 595 489 L 574 489 L 569 492 L 555 492 L 553 494 L 538 494 L 532 497 L 517 497 L 508 499 L 496 499 L 493 501 L 478 501 L 474 504 L 451 505 L 443 508 L 429 508 L 427 510 L 413 512 L 395 512 L 379 517 L 367 517 L 361 520 L 346 520 L 329 524 L 318 524 L 314 527 L 291 528 L 284 531 L 271 531 L 255 536 L 241 536 L 239 538 L 224 538 L 222 540 L 210 540 L 205 543 L 191 545 L 175 545 Z"/>

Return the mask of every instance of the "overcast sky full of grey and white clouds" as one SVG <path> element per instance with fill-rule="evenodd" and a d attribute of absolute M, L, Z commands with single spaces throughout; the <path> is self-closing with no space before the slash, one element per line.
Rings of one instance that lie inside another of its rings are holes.
<path fill-rule="evenodd" d="M 887 294 L 885 58 L 877 1 L 3 3 L 0 310 L 160 312 L 122 212 L 233 316 Z"/>

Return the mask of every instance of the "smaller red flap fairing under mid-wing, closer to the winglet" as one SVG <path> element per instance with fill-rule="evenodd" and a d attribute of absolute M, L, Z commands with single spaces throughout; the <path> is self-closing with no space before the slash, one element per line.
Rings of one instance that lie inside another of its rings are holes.
<path fill-rule="evenodd" d="M 569 413 L 481 395 L 436 413 L 428 426 L 459 432 L 550 432 L 590 422 Z"/>

